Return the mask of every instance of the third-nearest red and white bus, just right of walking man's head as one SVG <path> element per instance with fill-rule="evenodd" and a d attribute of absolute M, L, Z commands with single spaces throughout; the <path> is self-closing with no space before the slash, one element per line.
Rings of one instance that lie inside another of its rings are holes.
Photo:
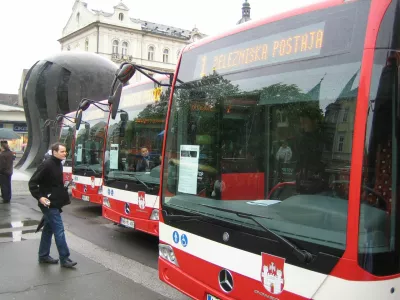
<path fill-rule="evenodd" d="M 108 102 L 104 100 L 92 103 L 81 113 L 81 125 L 75 130 L 72 196 L 78 200 L 102 204 L 103 152 L 109 115 Z"/>

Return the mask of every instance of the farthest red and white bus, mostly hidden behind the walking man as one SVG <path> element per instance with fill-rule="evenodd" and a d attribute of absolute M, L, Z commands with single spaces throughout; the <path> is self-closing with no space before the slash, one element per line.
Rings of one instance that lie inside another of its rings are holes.
<path fill-rule="evenodd" d="M 60 137 L 59 142 L 65 144 L 67 148 L 67 158 L 63 164 L 63 179 L 64 185 L 72 183 L 72 158 L 75 140 L 75 118 L 76 112 L 70 112 L 65 116 L 62 116 L 60 125 Z"/>

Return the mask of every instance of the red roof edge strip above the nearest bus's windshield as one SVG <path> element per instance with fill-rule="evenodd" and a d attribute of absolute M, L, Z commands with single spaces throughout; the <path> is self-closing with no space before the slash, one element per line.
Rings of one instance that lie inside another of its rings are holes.
<path fill-rule="evenodd" d="M 351 2 L 354 2 L 354 1 L 358 1 L 358 0 L 352 0 Z M 249 30 L 252 28 L 256 28 L 261 25 L 273 23 L 275 21 L 294 17 L 294 16 L 301 15 L 301 14 L 304 14 L 307 12 L 317 11 L 317 10 L 321 10 L 321 9 L 325 9 L 325 8 L 329 8 L 329 7 L 333 7 L 333 6 L 338 6 L 338 5 L 342 5 L 342 4 L 347 4 L 347 3 L 348 2 L 345 2 L 345 0 L 326 0 L 324 2 L 319 2 L 319 3 L 311 4 L 308 6 L 299 7 L 299 8 L 296 8 L 296 9 L 293 9 L 293 10 L 290 10 L 287 12 L 283 12 L 280 14 L 276 14 L 274 16 L 270 16 L 270 17 L 266 17 L 266 18 L 262 18 L 262 19 L 258 19 L 258 20 L 248 21 L 248 22 L 242 23 L 240 25 L 236 25 L 235 27 L 233 27 L 229 30 L 220 32 L 215 35 L 205 37 L 197 42 L 191 43 L 183 48 L 182 53 L 190 51 L 197 47 L 206 45 L 208 43 L 219 40 L 221 38 L 224 38 L 224 37 L 227 37 L 230 35 L 234 35 L 236 33 L 246 31 L 246 30 Z"/>

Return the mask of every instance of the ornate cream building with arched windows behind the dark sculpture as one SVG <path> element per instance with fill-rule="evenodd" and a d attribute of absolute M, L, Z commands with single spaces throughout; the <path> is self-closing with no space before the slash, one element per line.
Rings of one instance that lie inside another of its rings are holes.
<path fill-rule="evenodd" d="M 89 9 L 85 2 L 76 0 L 59 42 L 62 51 L 93 52 L 117 65 L 128 61 L 173 72 L 181 49 L 204 36 L 197 28 L 187 30 L 132 18 L 122 1 L 108 13 Z M 136 80 L 140 79 L 137 73 Z"/>

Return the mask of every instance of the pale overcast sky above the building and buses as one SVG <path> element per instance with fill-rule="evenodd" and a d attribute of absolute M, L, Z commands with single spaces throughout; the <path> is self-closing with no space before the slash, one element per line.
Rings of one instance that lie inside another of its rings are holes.
<path fill-rule="evenodd" d="M 113 12 L 120 0 L 86 0 Z M 248 0 L 253 20 L 324 0 Z M 0 0 L 0 93 L 18 93 L 22 70 L 59 52 L 62 29 L 75 0 Z M 212 35 L 235 26 L 244 0 L 124 0 L 130 17 Z"/>

